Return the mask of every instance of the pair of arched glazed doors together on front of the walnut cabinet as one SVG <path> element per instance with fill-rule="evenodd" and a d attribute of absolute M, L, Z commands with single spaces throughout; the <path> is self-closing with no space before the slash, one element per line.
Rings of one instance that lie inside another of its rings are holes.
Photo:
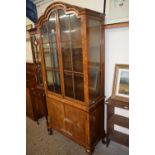
<path fill-rule="evenodd" d="M 41 36 L 47 92 L 84 102 L 80 18 L 55 9 L 42 24 Z"/>

